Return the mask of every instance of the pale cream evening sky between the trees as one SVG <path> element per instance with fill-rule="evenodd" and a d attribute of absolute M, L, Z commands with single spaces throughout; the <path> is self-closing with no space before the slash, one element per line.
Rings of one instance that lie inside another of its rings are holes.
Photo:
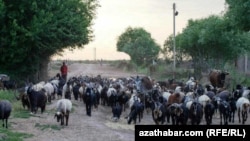
<path fill-rule="evenodd" d="M 151 34 L 157 44 L 173 34 L 173 3 L 178 15 L 175 17 L 175 34 L 181 33 L 188 20 L 221 15 L 225 0 L 99 0 L 93 20 L 93 41 L 84 49 L 65 50 L 60 60 L 129 60 L 130 57 L 116 50 L 118 37 L 128 27 L 141 27 Z"/>

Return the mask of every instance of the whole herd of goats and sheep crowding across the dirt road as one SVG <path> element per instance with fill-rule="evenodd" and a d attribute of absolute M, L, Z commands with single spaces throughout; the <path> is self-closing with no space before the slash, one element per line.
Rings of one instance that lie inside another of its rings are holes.
<path fill-rule="evenodd" d="M 72 99 L 83 101 L 86 107 L 111 107 L 115 121 L 128 108 L 128 124 L 141 122 L 145 111 L 152 113 L 156 125 L 199 125 L 203 119 L 206 125 L 211 125 L 216 113 L 219 114 L 220 125 L 230 122 L 245 124 L 250 110 L 250 87 L 238 84 L 233 91 L 224 88 L 227 75 L 227 72 L 212 70 L 208 76 L 210 84 L 204 85 L 194 77 L 186 82 L 174 79 L 156 81 L 148 76 L 114 79 L 100 75 L 75 76 L 64 80 L 57 74 L 47 82 L 19 89 L 18 99 L 24 108 L 34 114 L 39 108 L 43 113 L 47 103 L 57 100 L 55 117 L 61 125 L 68 125 Z M 6 120 L 6 128 L 10 113 L 11 103 L 1 100 L 0 119 Z M 235 113 L 238 121 L 234 121 Z"/>

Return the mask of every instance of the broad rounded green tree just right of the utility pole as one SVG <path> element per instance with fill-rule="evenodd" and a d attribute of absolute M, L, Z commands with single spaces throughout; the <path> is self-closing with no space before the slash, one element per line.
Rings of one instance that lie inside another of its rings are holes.
<path fill-rule="evenodd" d="M 249 50 L 246 36 L 235 34 L 223 17 L 210 16 L 189 20 L 188 26 L 176 36 L 176 47 L 191 57 L 195 72 L 210 67 L 221 68 Z"/>

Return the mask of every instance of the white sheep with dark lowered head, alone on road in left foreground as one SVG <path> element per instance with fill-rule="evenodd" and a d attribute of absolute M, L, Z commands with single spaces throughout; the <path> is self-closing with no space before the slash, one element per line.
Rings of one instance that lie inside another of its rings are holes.
<path fill-rule="evenodd" d="M 56 113 L 54 118 L 57 118 L 57 122 L 61 121 L 61 125 L 64 125 L 65 120 L 65 125 L 68 126 L 69 115 L 71 110 L 72 102 L 69 99 L 60 99 L 56 103 Z"/>

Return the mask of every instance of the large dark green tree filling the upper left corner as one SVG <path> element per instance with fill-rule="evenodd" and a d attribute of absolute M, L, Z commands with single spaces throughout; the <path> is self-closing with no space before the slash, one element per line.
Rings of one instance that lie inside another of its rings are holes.
<path fill-rule="evenodd" d="M 97 6 L 96 0 L 0 0 L 0 73 L 45 77 L 51 56 L 92 40 Z"/>

